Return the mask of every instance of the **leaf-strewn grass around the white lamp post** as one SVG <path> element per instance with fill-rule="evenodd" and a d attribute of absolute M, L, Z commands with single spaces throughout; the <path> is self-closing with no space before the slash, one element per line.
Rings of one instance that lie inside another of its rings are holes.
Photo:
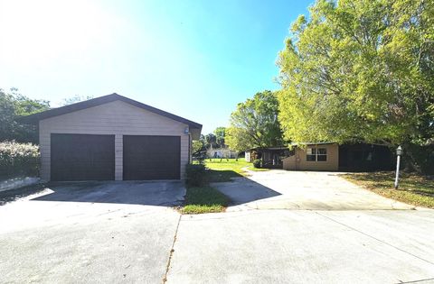
<path fill-rule="evenodd" d="M 400 187 L 393 188 L 392 171 L 348 173 L 341 177 L 373 192 L 414 206 L 434 208 L 434 179 L 416 174 L 401 173 Z"/>

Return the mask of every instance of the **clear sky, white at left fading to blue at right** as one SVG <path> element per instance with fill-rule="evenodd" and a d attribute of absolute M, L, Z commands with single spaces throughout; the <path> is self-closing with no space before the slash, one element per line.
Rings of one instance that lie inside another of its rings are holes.
<path fill-rule="evenodd" d="M 52 106 L 116 92 L 210 133 L 238 103 L 278 88 L 278 51 L 311 4 L 0 0 L 0 87 Z"/>

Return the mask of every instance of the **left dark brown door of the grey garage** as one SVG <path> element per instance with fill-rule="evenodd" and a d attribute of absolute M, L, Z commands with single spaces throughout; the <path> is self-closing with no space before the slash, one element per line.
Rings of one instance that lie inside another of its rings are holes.
<path fill-rule="evenodd" d="M 52 180 L 115 179 L 115 135 L 52 134 Z"/>

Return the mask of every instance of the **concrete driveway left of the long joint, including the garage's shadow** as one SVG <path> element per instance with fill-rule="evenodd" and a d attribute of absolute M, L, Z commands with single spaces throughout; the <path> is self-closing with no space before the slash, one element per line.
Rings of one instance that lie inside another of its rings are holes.
<path fill-rule="evenodd" d="M 0 206 L 1 283 L 159 283 L 181 182 L 58 184 Z"/>

